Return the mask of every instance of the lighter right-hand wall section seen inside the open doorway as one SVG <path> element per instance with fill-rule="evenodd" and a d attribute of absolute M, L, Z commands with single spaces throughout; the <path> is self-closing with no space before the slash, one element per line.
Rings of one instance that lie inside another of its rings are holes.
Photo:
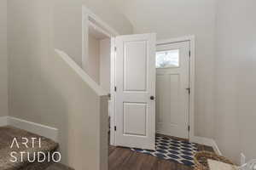
<path fill-rule="evenodd" d="M 110 38 L 100 42 L 100 82 L 102 88 L 110 94 Z"/>

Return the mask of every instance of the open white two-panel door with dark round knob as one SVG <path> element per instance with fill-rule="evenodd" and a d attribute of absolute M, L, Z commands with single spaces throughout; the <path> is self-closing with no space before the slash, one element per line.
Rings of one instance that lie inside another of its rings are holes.
<path fill-rule="evenodd" d="M 154 150 L 155 34 L 116 37 L 116 144 Z"/>

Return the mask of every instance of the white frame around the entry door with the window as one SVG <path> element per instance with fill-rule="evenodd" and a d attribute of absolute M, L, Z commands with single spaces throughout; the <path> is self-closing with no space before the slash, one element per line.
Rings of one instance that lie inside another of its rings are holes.
<path fill-rule="evenodd" d="M 177 37 L 160 40 L 157 45 L 175 42 L 189 42 L 189 141 L 195 136 L 195 36 Z"/>

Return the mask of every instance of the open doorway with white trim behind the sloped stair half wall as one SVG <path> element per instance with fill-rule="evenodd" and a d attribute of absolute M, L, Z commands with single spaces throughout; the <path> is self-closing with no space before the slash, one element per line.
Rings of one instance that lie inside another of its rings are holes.
<path fill-rule="evenodd" d="M 85 7 L 83 7 L 82 31 L 82 68 L 109 94 L 107 128 L 110 141 L 108 142 L 114 144 L 114 39 L 119 33 Z"/>

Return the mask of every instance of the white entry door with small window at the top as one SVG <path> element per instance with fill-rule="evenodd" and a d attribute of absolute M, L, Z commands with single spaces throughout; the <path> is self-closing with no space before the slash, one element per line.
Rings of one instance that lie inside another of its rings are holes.
<path fill-rule="evenodd" d="M 157 133 L 189 138 L 189 42 L 157 45 Z"/>

